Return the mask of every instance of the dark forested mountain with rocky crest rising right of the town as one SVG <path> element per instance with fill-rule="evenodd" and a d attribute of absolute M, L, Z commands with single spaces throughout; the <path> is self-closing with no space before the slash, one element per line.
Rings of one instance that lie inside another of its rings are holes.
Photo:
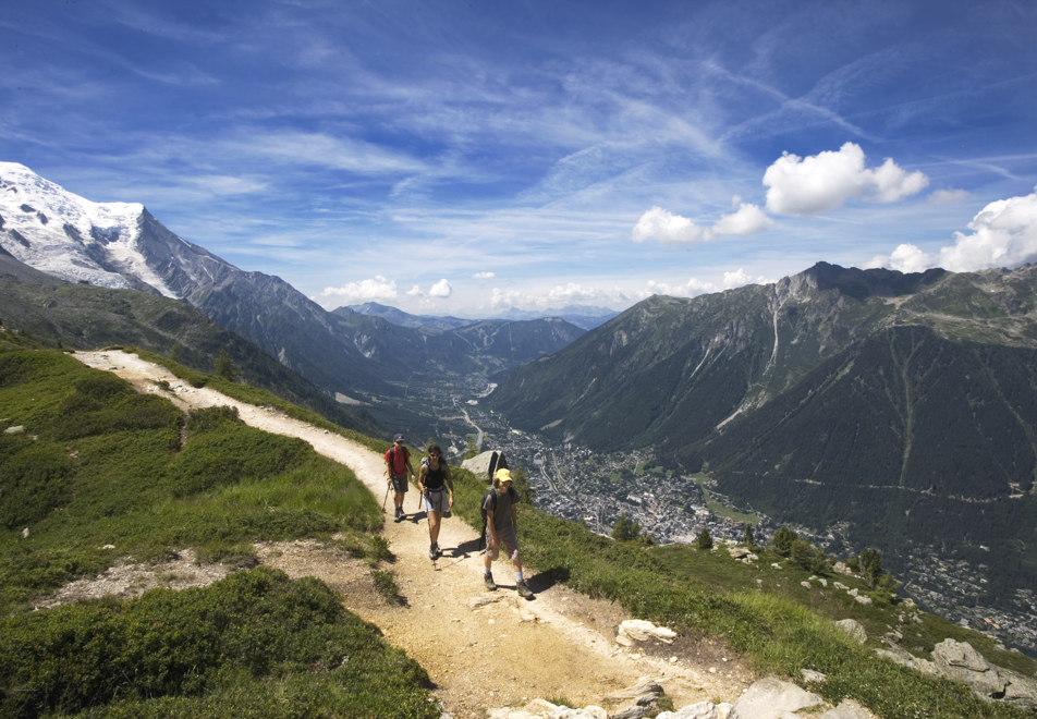
<path fill-rule="evenodd" d="M 707 470 L 780 521 L 847 526 L 894 556 L 942 544 L 995 568 L 992 599 L 1037 589 L 1037 266 L 819 263 L 655 296 L 486 402 L 557 441 Z"/>

